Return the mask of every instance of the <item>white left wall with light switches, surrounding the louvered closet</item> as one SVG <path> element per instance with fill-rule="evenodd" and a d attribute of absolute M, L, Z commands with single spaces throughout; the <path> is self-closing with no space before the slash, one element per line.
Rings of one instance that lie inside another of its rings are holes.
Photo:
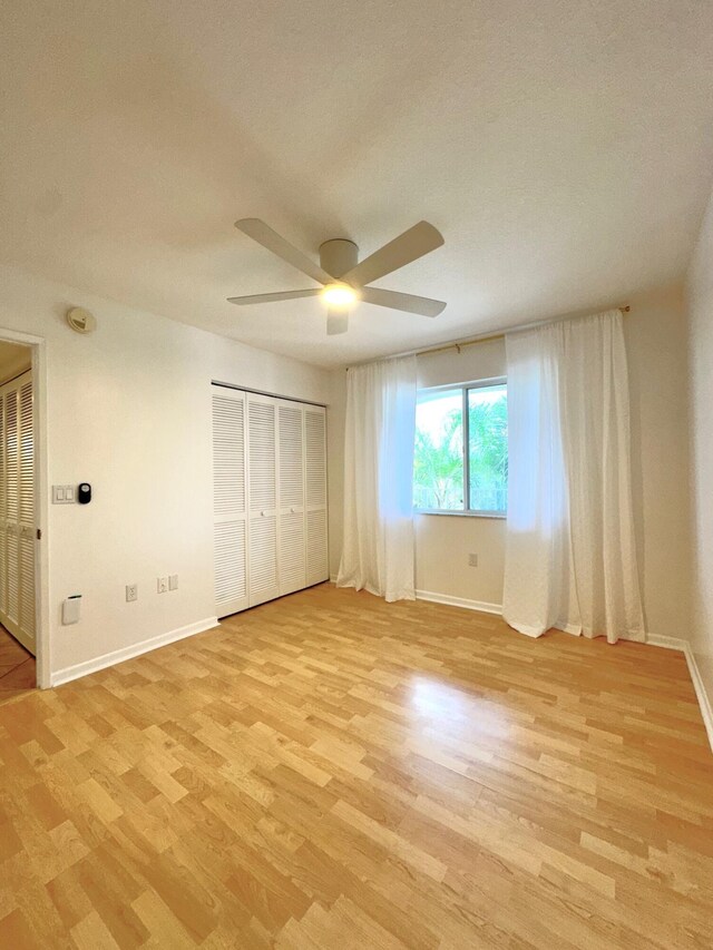
<path fill-rule="evenodd" d="M 86 507 L 50 506 L 42 526 L 52 670 L 211 618 L 211 381 L 326 402 L 329 373 L 12 268 L 0 276 L 0 336 L 46 340 L 49 482 L 94 489 Z M 95 334 L 66 325 L 69 305 L 92 311 Z M 168 574 L 179 589 L 158 595 Z M 64 627 L 70 594 L 82 619 Z"/>

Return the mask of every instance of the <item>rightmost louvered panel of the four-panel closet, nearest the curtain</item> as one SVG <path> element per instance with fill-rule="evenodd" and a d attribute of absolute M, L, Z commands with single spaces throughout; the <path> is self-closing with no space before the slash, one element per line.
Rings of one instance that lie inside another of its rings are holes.
<path fill-rule="evenodd" d="M 306 581 L 329 579 L 326 540 L 326 414 L 322 407 L 304 409 Z"/>

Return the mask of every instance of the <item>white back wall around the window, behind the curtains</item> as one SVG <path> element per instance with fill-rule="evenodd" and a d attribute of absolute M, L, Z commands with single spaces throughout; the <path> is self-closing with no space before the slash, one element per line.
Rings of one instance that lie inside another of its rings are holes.
<path fill-rule="evenodd" d="M 625 317 L 631 376 L 632 463 L 637 549 L 647 630 L 686 636 L 690 532 L 685 392 L 686 321 L 681 287 L 629 301 Z M 419 385 L 443 385 L 505 375 L 505 344 L 478 344 L 460 353 L 423 355 Z M 332 374 L 330 398 L 331 570 L 341 547 L 341 463 L 345 374 Z M 334 411 L 333 411 L 334 409 Z M 336 423 L 339 419 L 339 423 Z M 504 519 L 420 515 L 416 519 L 416 584 L 419 590 L 458 599 L 501 604 Z M 478 567 L 468 555 L 478 555 Z"/>

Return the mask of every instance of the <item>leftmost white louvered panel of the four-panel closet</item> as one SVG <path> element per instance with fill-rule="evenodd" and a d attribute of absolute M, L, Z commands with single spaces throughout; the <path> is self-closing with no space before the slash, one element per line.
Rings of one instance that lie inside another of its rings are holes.
<path fill-rule="evenodd" d="M 245 393 L 213 390 L 215 613 L 248 606 Z"/>

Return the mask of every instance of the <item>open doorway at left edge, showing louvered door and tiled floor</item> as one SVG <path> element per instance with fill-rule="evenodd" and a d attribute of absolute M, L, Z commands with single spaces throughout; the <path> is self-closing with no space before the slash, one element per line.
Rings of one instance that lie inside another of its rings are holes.
<path fill-rule="evenodd" d="M 0 331 L 0 703 L 42 679 L 37 350 Z"/>

